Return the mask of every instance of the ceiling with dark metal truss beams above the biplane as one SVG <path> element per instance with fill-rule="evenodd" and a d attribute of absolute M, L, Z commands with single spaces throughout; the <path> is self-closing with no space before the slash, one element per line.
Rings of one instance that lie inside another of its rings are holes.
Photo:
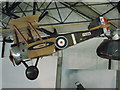
<path fill-rule="evenodd" d="M 83 30 L 88 27 L 85 22 L 103 16 L 110 21 L 111 29 L 120 27 L 118 2 L 2 2 L 0 27 L 9 28 L 9 21 L 12 19 L 30 16 L 43 15 L 39 26 L 51 26 L 59 28 L 59 32 L 72 32 Z M 83 24 L 76 26 L 77 24 Z M 67 30 L 65 26 L 70 26 Z M 77 28 L 79 27 L 79 28 Z M 60 29 L 61 28 L 61 29 Z"/>

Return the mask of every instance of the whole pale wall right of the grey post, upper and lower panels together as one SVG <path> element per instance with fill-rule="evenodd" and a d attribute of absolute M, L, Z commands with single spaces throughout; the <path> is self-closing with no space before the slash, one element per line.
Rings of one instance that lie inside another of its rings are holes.
<path fill-rule="evenodd" d="M 96 54 L 102 40 L 93 38 L 64 50 L 62 88 L 75 88 L 77 81 L 85 88 L 116 87 L 118 61 L 112 61 L 112 70 L 109 71 L 108 60 Z"/>

